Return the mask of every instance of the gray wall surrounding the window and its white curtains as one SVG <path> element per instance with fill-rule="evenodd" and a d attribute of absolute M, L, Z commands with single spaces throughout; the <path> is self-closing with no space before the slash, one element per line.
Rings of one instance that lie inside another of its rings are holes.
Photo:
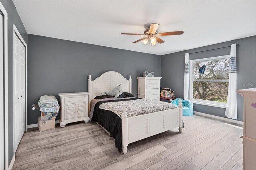
<path fill-rule="evenodd" d="M 162 87 L 169 87 L 176 92 L 177 97 L 183 98 L 184 84 L 184 53 L 193 53 L 229 46 L 232 43 L 238 43 L 236 48 L 237 55 L 237 89 L 253 88 L 256 85 L 256 36 L 232 40 L 229 42 L 208 45 L 205 47 L 189 49 L 177 53 L 162 55 Z M 230 48 L 212 50 L 209 52 L 190 54 L 189 59 L 200 59 L 207 57 L 216 57 L 229 55 Z M 225 109 L 211 107 L 206 105 L 194 104 L 194 111 L 225 117 Z M 243 121 L 243 98 L 237 95 L 237 119 Z M 226 117 L 227 118 L 227 117 Z"/>

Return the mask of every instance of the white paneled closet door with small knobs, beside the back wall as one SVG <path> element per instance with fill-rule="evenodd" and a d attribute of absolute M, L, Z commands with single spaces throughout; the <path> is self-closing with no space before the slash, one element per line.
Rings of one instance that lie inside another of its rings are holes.
<path fill-rule="evenodd" d="M 14 37 L 14 150 L 25 131 L 25 46 Z"/>

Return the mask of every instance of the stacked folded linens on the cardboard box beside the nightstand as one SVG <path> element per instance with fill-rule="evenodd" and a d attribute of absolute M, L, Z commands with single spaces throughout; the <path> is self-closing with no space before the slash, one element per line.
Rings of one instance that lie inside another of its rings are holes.
<path fill-rule="evenodd" d="M 55 118 L 60 109 L 60 105 L 58 104 L 58 100 L 55 96 L 41 96 L 38 101 L 38 105 L 40 107 L 40 111 L 44 112 L 47 119 Z"/>

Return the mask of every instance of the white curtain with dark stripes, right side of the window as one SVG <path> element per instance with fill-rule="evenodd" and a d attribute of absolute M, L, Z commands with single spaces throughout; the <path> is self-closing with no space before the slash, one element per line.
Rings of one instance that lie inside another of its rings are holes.
<path fill-rule="evenodd" d="M 230 69 L 228 80 L 228 99 L 226 104 L 226 117 L 237 119 L 236 107 L 236 44 L 231 45 L 230 50 Z"/>

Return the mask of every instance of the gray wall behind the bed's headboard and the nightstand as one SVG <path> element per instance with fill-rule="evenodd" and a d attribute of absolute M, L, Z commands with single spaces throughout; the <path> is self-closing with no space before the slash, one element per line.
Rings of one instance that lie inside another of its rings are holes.
<path fill-rule="evenodd" d="M 106 71 L 132 76 L 132 94 L 137 96 L 137 78 L 142 71 L 161 76 L 161 56 L 123 49 L 28 35 L 28 125 L 38 123 L 32 105 L 42 95 L 88 91 L 88 75 L 96 79 Z M 56 120 L 59 119 L 59 116 Z"/>

